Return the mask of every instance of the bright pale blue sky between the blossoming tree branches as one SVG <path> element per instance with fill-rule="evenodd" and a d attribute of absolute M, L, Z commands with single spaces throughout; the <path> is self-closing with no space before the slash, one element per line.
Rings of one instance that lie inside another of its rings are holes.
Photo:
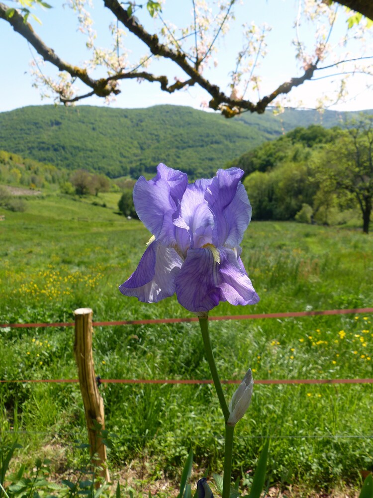
<path fill-rule="evenodd" d="M 11 1 L 6 3 L 9 6 L 14 4 Z M 60 57 L 70 63 L 79 64 L 87 58 L 87 51 L 84 47 L 85 38 L 77 31 L 76 17 L 71 9 L 62 6 L 62 1 L 50 1 L 50 3 L 53 5 L 52 9 L 37 9 L 35 11 L 42 24 L 39 25 L 32 21 L 34 29 Z M 102 4 L 102 1 L 93 1 L 95 28 L 99 33 L 97 42 L 98 45 L 105 46 L 110 40 L 107 26 L 112 17 Z M 302 71 L 299 68 L 299 63 L 295 60 L 295 50 L 291 43 L 295 37 L 293 24 L 297 4 L 292 0 L 244 0 L 241 5 L 238 5 L 236 23 L 231 23 L 229 34 L 218 45 L 219 50 L 216 54 L 218 66 L 207 73 L 211 80 L 226 90 L 229 82 L 228 74 L 235 67 L 236 54 L 242 46 L 242 23 L 244 20 L 247 22 L 253 20 L 258 25 L 266 22 L 272 26 L 267 38 L 268 55 L 261 61 L 261 96 L 270 93 L 290 77 L 300 76 Z M 163 7 L 163 18 L 180 25 L 185 19 L 191 19 L 191 6 L 191 0 L 167 0 Z M 154 21 L 144 10 L 139 11 L 140 21 L 145 23 L 149 31 L 154 31 L 156 29 Z M 339 9 L 339 14 L 340 19 L 331 37 L 333 43 L 336 43 L 346 31 L 346 15 L 344 15 L 342 8 Z M 352 42 L 352 55 L 359 56 L 364 49 L 368 49 L 368 53 L 373 55 L 372 31 L 373 28 L 369 30 L 365 41 Z M 313 33 L 314 31 L 309 25 L 303 24 L 301 26 L 301 38 L 310 46 L 314 43 Z M 139 54 L 146 53 L 145 47 L 142 48 L 141 42 L 132 35 L 127 36 L 125 44 L 132 52 L 134 59 Z M 33 80 L 29 74 L 29 62 L 38 55 L 3 20 L 0 20 L 0 46 L 4 47 L 0 52 L 0 112 L 27 105 L 52 103 L 51 99 L 41 100 L 39 91 L 32 88 Z M 166 73 L 171 81 L 175 75 L 182 76 L 181 72 L 175 73 L 172 66 L 164 62 L 154 62 L 149 70 L 154 73 Z M 43 67 L 43 72 L 52 75 L 54 70 L 49 64 L 46 64 Z M 104 74 L 100 76 L 104 76 Z M 291 93 L 290 105 L 296 105 L 301 100 L 305 107 L 314 108 L 318 97 L 338 88 L 336 80 L 336 78 L 328 78 L 305 83 Z M 355 75 L 350 78 L 350 94 L 347 103 L 339 103 L 331 109 L 343 111 L 373 109 L 373 92 L 366 88 L 369 84 L 373 84 L 373 76 Z M 143 82 L 138 84 L 135 81 L 127 81 L 122 84 L 121 88 L 122 93 L 117 97 L 116 102 L 111 104 L 112 107 L 139 108 L 157 104 L 175 104 L 201 108 L 201 102 L 209 100 L 209 95 L 197 87 L 172 95 L 161 92 L 157 83 Z M 87 91 L 83 85 L 82 91 Z M 104 101 L 99 98 L 88 99 L 82 104 L 105 105 Z"/>

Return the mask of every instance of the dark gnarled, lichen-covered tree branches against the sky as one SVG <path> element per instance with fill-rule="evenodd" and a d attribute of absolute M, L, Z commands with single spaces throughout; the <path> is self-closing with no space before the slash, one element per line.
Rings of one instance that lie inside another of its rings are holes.
<path fill-rule="evenodd" d="M 231 0 L 231 5 L 234 0 Z M 187 55 L 183 53 L 178 48 L 173 49 L 160 43 L 156 34 L 148 33 L 145 28 L 137 22 L 133 16 L 128 16 L 127 10 L 122 7 L 122 4 L 118 0 L 103 0 L 104 5 L 110 9 L 115 17 L 122 22 L 122 24 L 137 38 L 142 40 L 145 45 L 150 49 L 153 55 L 163 57 L 173 61 L 179 68 L 181 68 L 188 78 L 185 81 L 176 81 L 176 83 L 169 85 L 168 78 L 166 76 L 156 76 L 154 74 L 135 70 L 128 71 L 126 73 L 118 71 L 113 76 L 107 76 L 106 78 L 94 79 L 89 74 L 87 69 L 81 68 L 79 66 L 74 66 L 68 62 L 62 60 L 52 48 L 48 47 L 34 32 L 31 25 L 25 22 L 24 17 L 15 9 L 11 16 L 7 16 L 6 12 L 8 7 L 0 2 L 0 19 L 8 22 L 13 29 L 19 33 L 23 38 L 25 38 L 35 50 L 43 57 L 47 62 L 53 64 L 62 72 L 67 72 L 72 78 L 79 79 L 85 85 L 87 85 L 92 91 L 85 93 L 81 96 L 74 97 L 72 99 L 67 98 L 64 95 L 63 90 L 56 90 L 60 94 L 60 100 L 63 103 L 77 102 L 81 99 L 88 98 L 92 95 L 97 95 L 99 97 L 108 97 L 112 94 L 118 95 L 120 89 L 118 88 L 118 82 L 124 79 L 140 78 L 145 79 L 149 82 L 160 83 L 161 90 L 172 93 L 177 90 L 181 90 L 187 86 L 193 86 L 195 84 L 199 85 L 202 89 L 209 93 L 211 100 L 209 102 L 209 107 L 215 111 L 220 111 L 226 118 L 231 118 L 237 114 L 244 111 L 249 111 L 251 113 L 262 114 L 266 107 L 281 94 L 287 94 L 292 88 L 302 85 L 305 81 L 311 80 L 313 78 L 314 72 L 318 69 L 317 65 L 319 59 L 311 64 L 304 72 L 303 76 L 291 78 L 289 81 L 279 85 L 271 94 L 253 103 L 245 99 L 231 98 L 222 92 L 219 86 L 211 83 L 208 79 L 204 78 L 202 74 L 197 70 L 198 65 L 195 66 L 190 61 L 187 60 Z M 360 9 L 364 15 L 373 17 L 373 2 L 371 0 L 351 0 L 351 1 L 338 1 L 337 3 L 348 4 L 349 7 Z M 364 8 L 363 8 L 364 7 Z M 372 10 L 372 12 L 371 12 Z M 136 68 L 137 69 L 137 68 Z"/>

